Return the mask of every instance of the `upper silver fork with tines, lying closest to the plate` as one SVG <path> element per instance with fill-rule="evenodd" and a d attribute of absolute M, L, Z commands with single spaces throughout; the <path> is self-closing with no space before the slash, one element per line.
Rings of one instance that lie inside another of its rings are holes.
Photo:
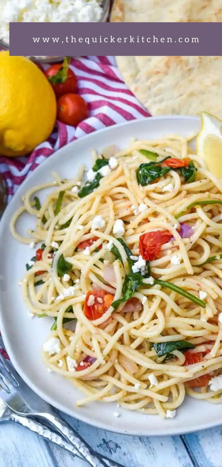
<path fill-rule="evenodd" d="M 4 348 L 0 336 L 0 345 Z M 8 360 L 0 355 L 0 397 L 18 415 L 43 419 L 71 443 L 77 454 L 92 467 L 123 467 L 96 453 L 55 410 L 21 379 Z"/>

